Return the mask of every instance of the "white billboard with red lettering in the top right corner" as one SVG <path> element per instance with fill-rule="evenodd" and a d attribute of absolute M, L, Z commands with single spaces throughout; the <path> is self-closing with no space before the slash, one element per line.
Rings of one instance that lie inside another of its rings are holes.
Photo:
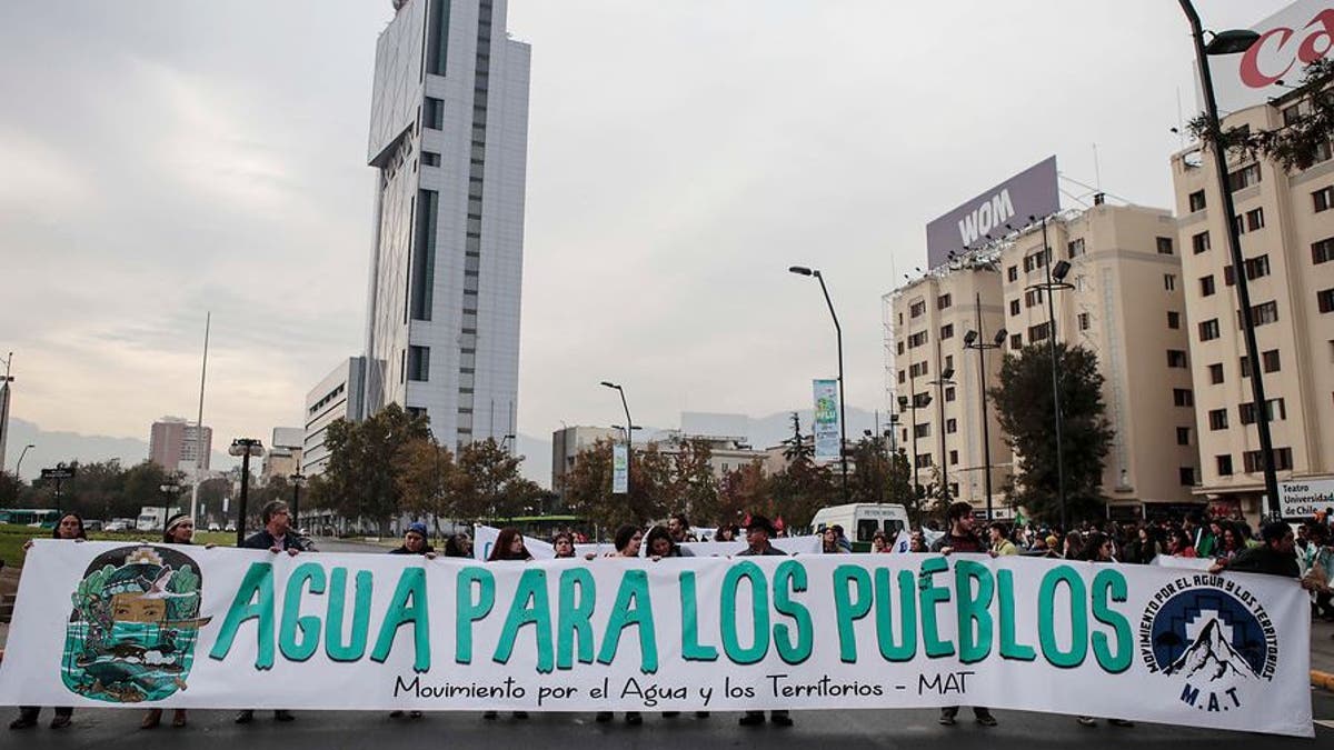
<path fill-rule="evenodd" d="M 1259 40 L 1246 52 L 1210 57 L 1214 93 L 1225 115 L 1287 93 L 1307 65 L 1329 56 L 1334 48 L 1334 3 L 1298 0 L 1251 31 L 1259 33 Z"/>

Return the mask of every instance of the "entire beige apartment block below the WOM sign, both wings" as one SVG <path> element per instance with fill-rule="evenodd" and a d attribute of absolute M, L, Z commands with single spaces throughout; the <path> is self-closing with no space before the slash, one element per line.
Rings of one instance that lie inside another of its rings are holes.
<path fill-rule="evenodd" d="M 1113 518 L 1155 515 L 1190 502 L 1199 479 L 1175 227 L 1167 211 L 1107 206 L 1101 199 L 1089 210 L 1047 220 L 1051 264 L 1070 263 L 1069 288 L 1053 292 L 1057 335 L 1090 348 L 1105 379 L 1103 402 L 1114 435 L 1102 490 Z M 934 400 L 930 408 L 916 410 L 914 432 L 904 430 L 900 438 L 911 440 L 915 434 L 919 454 L 930 452 L 918 456 L 919 466 L 939 466 L 944 458 L 951 491 L 979 508 L 986 499 L 974 490 L 974 476 L 976 486 L 982 484 L 983 466 L 978 363 L 976 352 L 964 350 L 960 332 L 975 327 L 971 298 L 980 295 L 986 328 L 980 340 L 990 343 L 1002 327 L 1007 334 L 1000 351 L 987 352 L 987 387 L 995 386 L 1000 352 L 1017 352 L 1051 335 L 1047 294 L 1038 287 L 1046 282 L 1046 260 L 1042 227 L 1030 226 L 974 256 L 974 267 L 942 268 L 891 295 L 898 328 L 892 378 L 900 388 L 895 396 L 907 395 L 910 404 L 914 392 L 920 399 L 927 388 L 932 399 L 944 396 L 943 447 L 939 438 L 928 439 L 938 435 L 942 419 Z M 979 267 L 983 262 L 994 270 Z M 963 300 L 964 308 L 954 310 L 960 291 L 970 299 Z M 940 299 L 946 295 L 947 303 Z M 951 323 L 954 330 L 948 331 Z M 948 384 L 930 384 L 939 380 L 932 372 L 951 366 L 958 387 L 952 398 Z M 1005 479 L 1022 456 L 1009 454 L 994 410 L 991 416 L 992 502 L 1002 507 Z"/>

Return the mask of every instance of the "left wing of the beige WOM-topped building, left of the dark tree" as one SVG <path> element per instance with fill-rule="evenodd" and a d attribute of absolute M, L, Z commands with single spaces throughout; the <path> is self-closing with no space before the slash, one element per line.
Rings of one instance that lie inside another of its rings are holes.
<path fill-rule="evenodd" d="M 984 510 L 986 451 L 982 435 L 982 388 L 994 387 L 1003 350 L 983 354 L 964 347 L 976 330 L 979 343 L 991 343 L 1005 326 L 1000 274 L 992 263 L 928 274 L 884 296 L 887 344 L 891 347 L 890 383 L 898 411 L 898 447 L 914 468 L 914 483 L 938 487 Z M 902 406 L 906 404 L 906 406 Z M 988 403 L 991 494 L 995 515 L 1007 515 L 1005 484 L 1014 454 L 1005 444 L 996 412 Z"/>

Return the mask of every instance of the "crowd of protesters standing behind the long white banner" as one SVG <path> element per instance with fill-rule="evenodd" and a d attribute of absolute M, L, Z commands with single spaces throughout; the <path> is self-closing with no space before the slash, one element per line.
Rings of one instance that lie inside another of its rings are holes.
<path fill-rule="evenodd" d="M 297 555 L 313 551 L 309 539 L 300 536 L 291 528 L 291 514 L 285 503 L 280 500 L 264 506 L 261 512 L 263 528 L 251 535 L 241 544 L 245 548 L 268 550 L 272 554 Z M 1102 565 L 1153 565 L 1159 555 L 1178 558 L 1203 558 L 1213 560 L 1209 566 L 1211 573 L 1263 573 L 1299 579 L 1303 589 L 1311 597 L 1311 617 L 1334 622 L 1334 602 L 1331 602 L 1330 577 L 1334 574 L 1334 508 L 1329 508 L 1301 524 L 1285 522 L 1270 522 L 1263 524 L 1257 534 L 1255 530 L 1238 512 L 1229 516 L 1209 516 L 1203 512 L 1190 512 L 1178 519 L 1138 520 L 1130 523 L 1118 522 L 1083 522 L 1075 528 L 1062 532 L 1059 528 L 1041 523 L 1011 524 L 1000 520 L 980 522 L 971 504 L 956 502 L 948 506 L 944 518 L 944 528 L 912 528 L 908 530 L 908 552 L 936 552 L 951 554 L 988 554 L 991 556 L 1027 555 L 1043 558 L 1078 559 Z M 163 543 L 191 544 L 193 542 L 195 523 L 185 514 L 168 519 L 163 532 Z M 780 524 L 770 522 L 762 515 L 748 515 L 742 524 L 723 524 L 712 530 L 711 540 L 744 540 L 746 547 L 736 555 L 784 555 L 770 539 L 782 536 L 788 530 Z M 852 543 L 847 539 L 842 526 L 830 526 L 818 530 L 820 536 L 822 554 L 851 554 Z M 61 516 L 52 530 L 52 538 L 83 542 L 87 539 L 83 519 L 73 512 Z M 587 535 L 576 530 L 558 531 L 552 539 L 555 558 L 568 558 L 578 560 L 575 546 L 587 543 Z M 640 547 L 644 547 L 644 556 L 654 560 L 672 556 L 691 556 L 692 552 L 687 542 L 699 539 L 684 514 L 674 514 L 663 524 L 654 524 L 648 528 L 635 526 L 622 526 L 616 530 L 612 542 L 615 551 L 606 556 L 640 556 Z M 876 531 L 870 539 L 872 554 L 887 554 L 895 551 L 896 539 L 888 538 L 884 531 Z M 32 542 L 25 544 L 31 547 Z M 211 544 L 209 544 L 211 546 Z M 427 526 L 420 522 L 408 524 L 403 535 L 402 546 L 390 550 L 395 555 L 423 555 L 428 559 L 436 556 L 435 547 L 430 543 Z M 444 539 L 442 554 L 452 558 L 472 558 L 474 543 L 467 534 L 455 534 Z M 592 560 L 596 554 L 583 555 L 584 560 Z M 526 562 L 534 556 L 528 551 L 520 530 L 506 527 L 499 531 L 495 546 L 491 548 L 487 562 Z M 947 706 L 940 710 L 939 722 L 954 725 L 959 713 L 959 706 Z M 996 719 L 984 706 L 972 707 L 974 718 L 979 725 L 996 726 Z M 40 707 L 23 706 L 19 717 L 9 723 L 9 729 L 27 729 L 37 723 Z M 73 709 L 68 706 L 56 707 L 55 718 L 51 721 L 52 729 L 63 729 L 71 725 Z M 392 711 L 391 718 L 420 718 L 422 711 Z M 512 718 L 527 719 L 527 711 L 514 711 Z M 663 713 L 664 718 L 678 717 L 676 711 Z M 708 711 L 698 711 L 696 718 L 707 718 Z M 160 709 L 149 710 L 141 722 L 143 729 L 153 729 L 161 722 Z M 498 711 L 486 711 L 486 719 L 499 718 Z M 236 723 L 249 723 L 255 718 L 253 710 L 243 710 L 236 714 Z M 284 709 L 273 710 L 275 721 L 289 722 L 295 715 Z M 611 711 L 599 711 L 595 715 L 598 722 L 612 721 Z M 626 722 L 630 725 L 643 723 L 640 711 L 627 711 Z M 1095 726 L 1094 717 L 1077 717 L 1085 726 Z M 742 726 L 758 726 L 766 721 L 764 711 L 746 711 L 739 723 Z M 768 721 L 776 726 L 792 726 L 792 718 L 786 710 L 774 710 L 768 714 Z M 1123 719 L 1107 719 L 1114 726 L 1133 726 Z M 187 713 L 177 709 L 172 715 L 173 726 L 187 725 Z"/>

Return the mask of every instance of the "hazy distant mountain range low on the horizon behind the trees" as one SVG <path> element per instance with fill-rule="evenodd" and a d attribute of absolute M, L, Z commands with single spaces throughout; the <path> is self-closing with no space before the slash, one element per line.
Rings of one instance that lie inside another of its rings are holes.
<path fill-rule="evenodd" d="M 802 419 L 802 434 L 811 434 L 812 410 L 798 410 Z M 751 447 L 768 448 L 779 444 L 792 435 L 791 412 L 780 411 L 762 418 L 750 418 L 735 414 L 702 414 L 687 412 L 682 415 L 682 427 L 647 427 L 643 432 L 636 432 L 638 439 L 659 439 L 668 430 L 683 430 L 692 435 L 726 435 L 746 438 Z M 879 415 L 879 426 L 883 430 L 888 426 L 884 414 Z M 856 407 L 847 410 L 847 438 L 855 440 L 862 436 L 863 430 L 874 430 L 876 415 Z M 145 430 L 147 432 L 147 430 Z M 4 468 L 15 470 L 23 447 L 33 446 L 23 459 L 23 478 L 32 480 L 40 476 L 43 468 L 56 466 L 59 462 L 80 460 L 84 463 L 120 459 L 123 466 L 133 466 L 148 458 L 148 442 L 136 438 L 112 438 L 107 435 L 81 435 L 79 432 L 47 431 L 32 422 L 23 419 L 9 419 L 9 443 L 5 452 Z M 216 447 L 216 446 L 215 446 Z M 526 456 L 523 462 L 523 475 L 543 487 L 551 486 L 551 435 L 534 438 L 520 434 L 515 448 L 519 455 Z M 211 468 L 225 471 L 235 466 L 235 458 L 225 451 L 213 451 Z"/>

